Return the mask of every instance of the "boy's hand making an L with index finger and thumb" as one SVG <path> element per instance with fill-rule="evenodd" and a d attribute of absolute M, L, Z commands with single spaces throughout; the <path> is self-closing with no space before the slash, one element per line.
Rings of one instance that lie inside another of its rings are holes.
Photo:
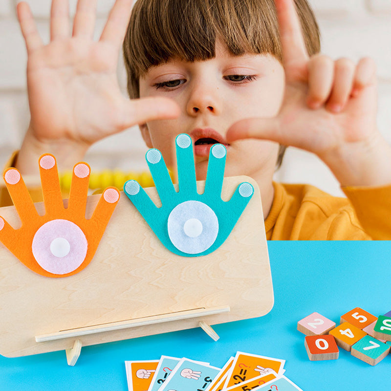
<path fill-rule="evenodd" d="M 285 94 L 274 118 L 235 123 L 228 141 L 260 138 L 317 154 L 342 186 L 391 184 L 391 148 L 376 126 L 373 60 L 308 57 L 293 0 L 275 0 Z"/>

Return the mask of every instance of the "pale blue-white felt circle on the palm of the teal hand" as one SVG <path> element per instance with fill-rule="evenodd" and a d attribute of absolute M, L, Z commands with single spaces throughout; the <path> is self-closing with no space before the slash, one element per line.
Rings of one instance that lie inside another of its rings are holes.
<path fill-rule="evenodd" d="M 215 242 L 218 220 L 215 212 L 203 202 L 185 201 L 171 211 L 167 228 L 171 242 L 179 251 L 199 254 Z"/>

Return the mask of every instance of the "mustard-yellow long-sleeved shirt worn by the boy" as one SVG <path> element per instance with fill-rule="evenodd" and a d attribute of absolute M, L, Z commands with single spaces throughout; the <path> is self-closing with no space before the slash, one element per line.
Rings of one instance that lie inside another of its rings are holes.
<path fill-rule="evenodd" d="M 12 167 L 15 157 L 16 153 L 6 167 Z M 273 185 L 274 200 L 265 220 L 268 240 L 391 239 L 391 185 L 343 188 L 348 198 L 311 185 Z M 40 188 L 29 191 L 34 202 L 42 201 Z M 0 207 L 8 205 L 11 198 L 1 188 Z"/>

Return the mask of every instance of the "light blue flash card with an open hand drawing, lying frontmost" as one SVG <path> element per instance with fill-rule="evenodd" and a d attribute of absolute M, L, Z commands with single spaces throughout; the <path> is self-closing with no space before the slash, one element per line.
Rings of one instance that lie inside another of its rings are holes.
<path fill-rule="evenodd" d="M 220 370 L 182 358 L 158 391 L 205 391 Z"/>

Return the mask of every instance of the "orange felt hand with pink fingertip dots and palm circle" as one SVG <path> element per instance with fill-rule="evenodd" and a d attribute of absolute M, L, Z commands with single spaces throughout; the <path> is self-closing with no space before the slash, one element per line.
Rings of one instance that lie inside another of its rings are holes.
<path fill-rule="evenodd" d="M 37 213 L 19 171 L 10 168 L 4 172 L 4 181 L 22 226 L 14 229 L 0 217 L 0 241 L 29 269 L 42 276 L 71 276 L 92 260 L 118 203 L 119 191 L 107 188 L 87 220 L 90 167 L 86 163 L 74 166 L 65 209 L 56 159 L 44 154 L 39 165 L 45 205 L 43 216 Z"/>

